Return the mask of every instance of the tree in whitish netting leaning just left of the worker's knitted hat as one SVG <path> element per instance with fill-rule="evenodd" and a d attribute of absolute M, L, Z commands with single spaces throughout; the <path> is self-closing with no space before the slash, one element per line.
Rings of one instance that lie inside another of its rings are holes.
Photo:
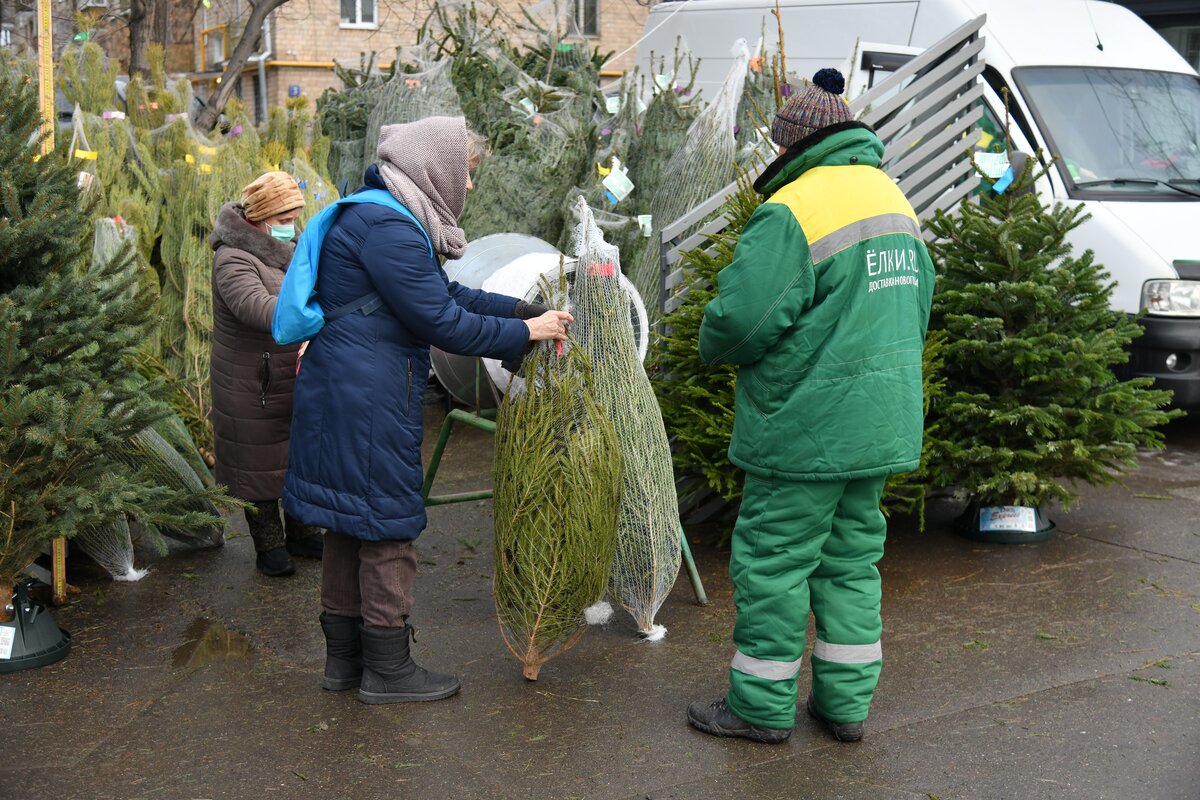
<path fill-rule="evenodd" d="M 683 146 L 671 154 L 664 179 L 650 186 L 655 236 L 733 180 L 737 158 L 733 130 L 750 64 L 744 38 L 733 44 L 733 56 L 721 89 L 692 121 Z M 654 309 L 659 308 L 660 258 L 659 248 L 647 247 L 630 270 L 642 296 L 654 299 Z"/>

